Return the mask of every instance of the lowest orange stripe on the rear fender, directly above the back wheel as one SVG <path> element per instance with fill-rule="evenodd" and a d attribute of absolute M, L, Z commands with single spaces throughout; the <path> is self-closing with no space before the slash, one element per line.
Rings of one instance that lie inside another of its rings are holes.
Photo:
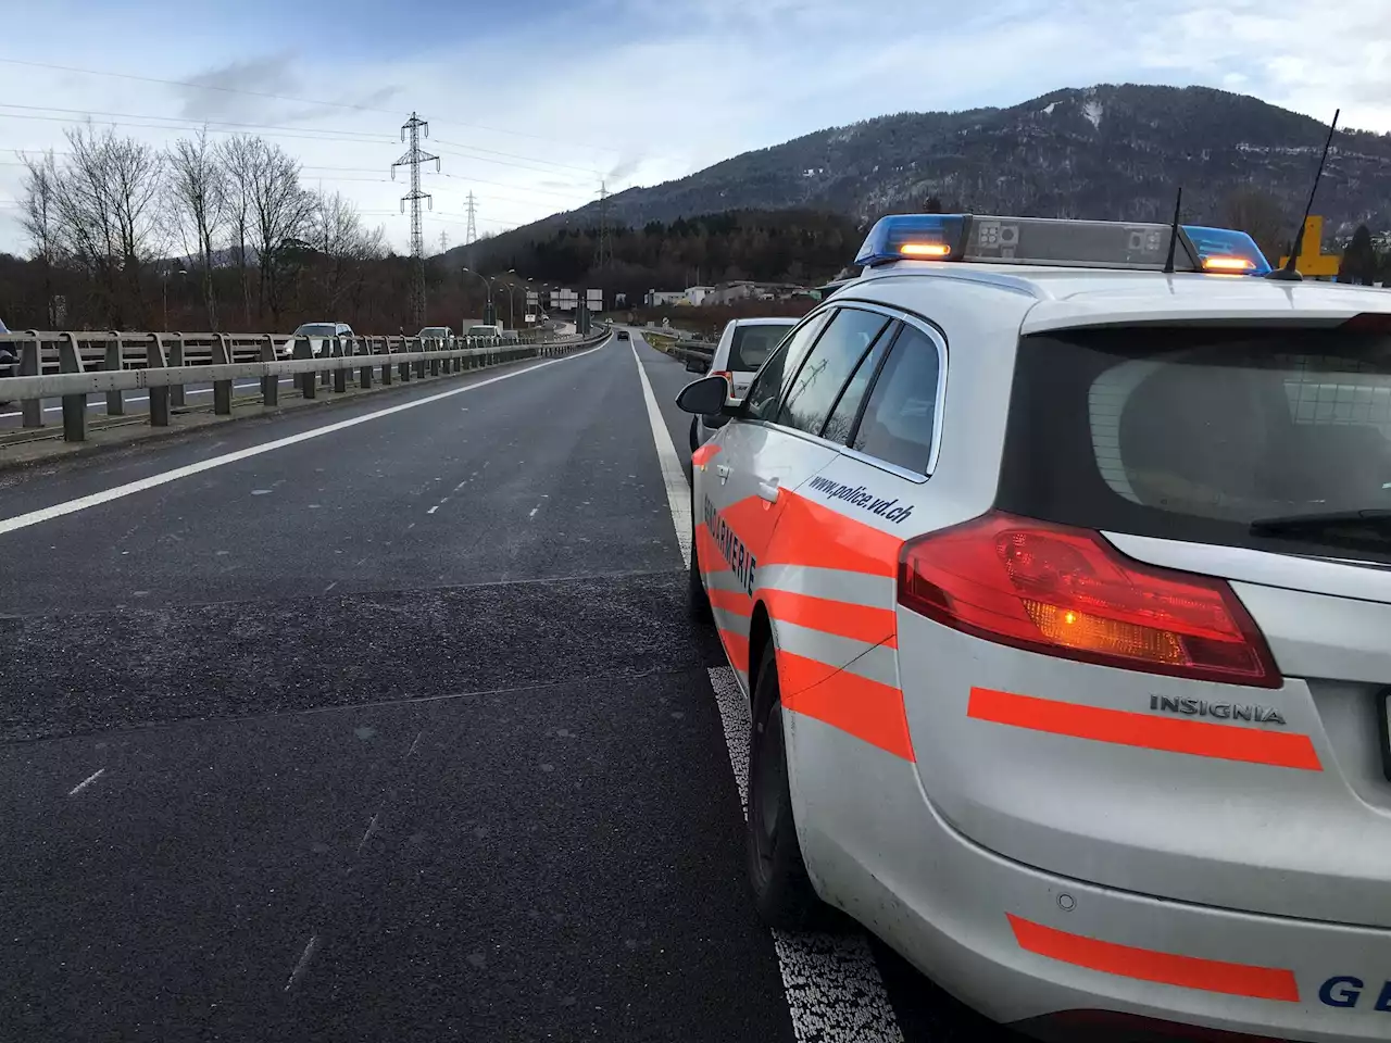
<path fill-rule="evenodd" d="M 778 686 L 786 709 L 849 731 L 894 757 L 914 759 L 900 688 L 782 649 Z"/>

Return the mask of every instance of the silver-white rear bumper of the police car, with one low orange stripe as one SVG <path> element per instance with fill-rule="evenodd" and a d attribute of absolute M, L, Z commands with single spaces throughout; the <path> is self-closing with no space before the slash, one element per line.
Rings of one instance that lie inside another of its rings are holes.
<path fill-rule="evenodd" d="M 1139 1039 L 1391 1036 L 1391 930 L 1175 903 L 1014 862 L 944 822 L 910 761 L 860 744 L 847 787 L 844 744 L 858 740 L 794 716 L 798 836 L 818 891 L 988 1017 L 1063 1039 L 1084 1025 L 1129 1039 L 1104 1035 L 1116 1014 L 1145 1025 Z"/>

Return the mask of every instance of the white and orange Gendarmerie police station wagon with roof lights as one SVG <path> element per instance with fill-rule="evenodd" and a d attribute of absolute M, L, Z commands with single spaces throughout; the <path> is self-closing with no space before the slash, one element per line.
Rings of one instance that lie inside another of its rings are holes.
<path fill-rule="evenodd" d="M 1040 1037 L 1391 1037 L 1391 296 L 1188 225 L 858 264 L 679 398 L 764 918 Z"/>

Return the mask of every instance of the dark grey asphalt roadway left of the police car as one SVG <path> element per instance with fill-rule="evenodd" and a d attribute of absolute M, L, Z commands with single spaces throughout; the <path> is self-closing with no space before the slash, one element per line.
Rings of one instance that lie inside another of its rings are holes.
<path fill-rule="evenodd" d="M 627 342 L 6 474 L 0 562 L 0 1039 L 851 1037 L 746 893 Z"/>

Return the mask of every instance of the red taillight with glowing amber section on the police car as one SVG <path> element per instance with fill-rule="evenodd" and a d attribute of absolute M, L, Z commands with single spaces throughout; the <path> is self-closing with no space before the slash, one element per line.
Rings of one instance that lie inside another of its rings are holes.
<path fill-rule="evenodd" d="M 1223 580 L 1142 565 L 1096 533 L 992 512 L 904 545 L 899 604 L 1046 655 L 1180 677 L 1281 684 Z"/>

